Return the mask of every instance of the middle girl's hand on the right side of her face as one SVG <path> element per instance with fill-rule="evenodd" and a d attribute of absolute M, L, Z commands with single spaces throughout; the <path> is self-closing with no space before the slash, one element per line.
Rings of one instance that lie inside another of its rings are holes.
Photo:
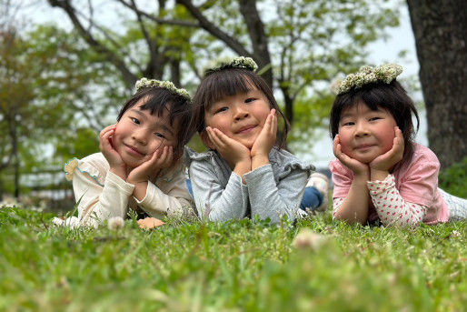
<path fill-rule="evenodd" d="M 275 138 L 277 134 L 277 116 L 275 115 L 275 109 L 272 109 L 264 122 L 263 129 L 259 136 L 256 137 L 252 146 L 251 156 L 267 157 L 269 159 L 269 153 L 275 144 Z"/>

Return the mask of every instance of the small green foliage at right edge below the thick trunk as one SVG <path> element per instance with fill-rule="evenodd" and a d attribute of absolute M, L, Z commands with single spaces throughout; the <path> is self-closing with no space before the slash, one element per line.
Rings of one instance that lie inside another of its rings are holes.
<path fill-rule="evenodd" d="M 461 162 L 442 170 L 440 187 L 453 196 L 467 198 L 467 157 Z"/>

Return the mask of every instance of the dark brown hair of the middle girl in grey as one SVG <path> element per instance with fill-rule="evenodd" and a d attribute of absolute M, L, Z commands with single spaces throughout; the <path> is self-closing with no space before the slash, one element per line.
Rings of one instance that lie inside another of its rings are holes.
<path fill-rule="evenodd" d="M 194 129 L 199 133 L 203 132 L 205 128 L 204 113 L 215 102 L 222 100 L 226 96 L 245 94 L 252 89 L 252 86 L 263 92 L 271 108 L 274 108 L 279 116 L 283 118 L 283 130 L 278 131 L 280 137 L 276 141 L 278 146 L 283 147 L 290 129 L 289 122 L 283 116 L 281 108 L 279 108 L 275 101 L 273 91 L 264 81 L 263 77 L 249 69 L 229 67 L 214 71 L 204 77 L 193 98 Z"/>

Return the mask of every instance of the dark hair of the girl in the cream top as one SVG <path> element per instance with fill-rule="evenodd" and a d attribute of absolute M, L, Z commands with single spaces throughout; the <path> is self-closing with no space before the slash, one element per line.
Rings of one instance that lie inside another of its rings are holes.
<path fill-rule="evenodd" d="M 135 106 L 141 99 L 145 99 L 145 102 L 144 105 L 140 106 L 140 109 L 150 110 L 151 115 L 156 114 L 161 117 L 164 115 L 164 110 L 168 112 L 169 124 L 175 127 L 176 132 L 177 145 L 174 148 L 174 154 L 183 155 L 184 145 L 194 135 L 194 131 L 188 126 L 193 117 L 191 101 L 166 88 L 144 87 L 124 104 L 117 116 L 117 121 L 120 121 L 124 112 Z"/>

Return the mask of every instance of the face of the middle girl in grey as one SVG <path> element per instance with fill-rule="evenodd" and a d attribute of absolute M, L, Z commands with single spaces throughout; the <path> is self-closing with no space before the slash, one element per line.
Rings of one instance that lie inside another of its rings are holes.
<path fill-rule="evenodd" d="M 252 148 L 271 111 L 269 101 L 256 87 L 246 94 L 224 97 L 204 114 L 206 126 L 221 130 L 247 148 Z"/>

